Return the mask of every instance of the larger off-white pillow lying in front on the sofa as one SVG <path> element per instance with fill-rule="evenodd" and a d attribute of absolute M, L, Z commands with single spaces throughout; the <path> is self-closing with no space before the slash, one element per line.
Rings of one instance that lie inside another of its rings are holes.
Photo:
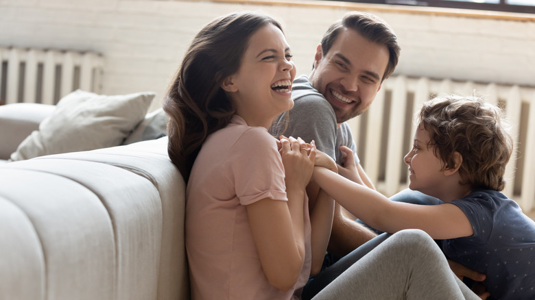
<path fill-rule="evenodd" d="M 75 90 L 11 154 L 11 160 L 120 145 L 143 120 L 154 92 L 97 95 Z"/>

